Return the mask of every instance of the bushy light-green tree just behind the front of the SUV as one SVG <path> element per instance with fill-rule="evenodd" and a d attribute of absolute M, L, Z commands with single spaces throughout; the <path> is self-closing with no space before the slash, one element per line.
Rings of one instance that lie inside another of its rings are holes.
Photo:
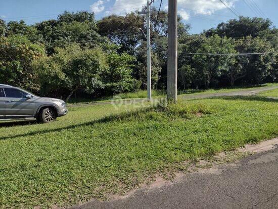
<path fill-rule="evenodd" d="M 78 44 L 56 48 L 53 56 L 37 60 L 33 66 L 40 72 L 42 87 L 51 87 L 48 92 L 56 88 L 69 92 L 66 101 L 78 89 L 92 94 L 103 88 L 101 74 L 108 68 L 106 54 L 100 48 L 83 50 Z"/>

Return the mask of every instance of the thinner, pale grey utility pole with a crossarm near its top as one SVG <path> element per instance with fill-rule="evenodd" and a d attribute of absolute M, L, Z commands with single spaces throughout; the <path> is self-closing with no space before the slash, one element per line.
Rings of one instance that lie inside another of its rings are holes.
<path fill-rule="evenodd" d="M 152 66 L 151 66 L 151 24 L 150 24 L 150 6 L 154 2 L 147 1 L 147 12 L 138 12 L 139 15 L 147 15 L 147 92 L 148 102 L 152 101 Z"/>

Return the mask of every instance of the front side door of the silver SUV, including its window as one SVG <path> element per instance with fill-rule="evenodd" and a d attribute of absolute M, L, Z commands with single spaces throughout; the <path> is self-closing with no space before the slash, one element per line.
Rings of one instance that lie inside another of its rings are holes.
<path fill-rule="evenodd" d="M 6 95 L 6 118 L 33 117 L 34 98 L 26 98 L 27 93 L 15 88 L 4 88 L 4 91 Z"/>

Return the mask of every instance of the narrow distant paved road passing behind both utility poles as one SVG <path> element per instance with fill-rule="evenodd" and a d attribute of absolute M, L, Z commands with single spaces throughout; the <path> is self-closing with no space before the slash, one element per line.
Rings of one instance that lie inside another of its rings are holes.
<path fill-rule="evenodd" d="M 213 98 L 213 97 L 231 97 L 231 96 L 251 96 L 251 95 L 256 95 L 260 92 L 265 92 L 273 89 L 278 89 L 278 86 L 274 87 L 260 87 L 257 89 L 245 89 L 245 90 L 238 90 L 234 92 L 226 92 L 226 93 L 213 93 L 213 94 L 198 94 L 198 95 L 185 95 L 185 96 L 180 96 L 180 99 L 184 100 L 191 100 L 191 99 L 205 99 L 205 98 Z M 272 98 L 272 99 L 277 99 L 277 98 Z M 137 103 L 142 103 L 146 102 L 147 98 L 144 99 L 124 99 L 122 100 L 123 104 L 137 104 Z M 112 104 L 113 101 L 104 101 L 104 102 L 95 102 L 95 103 L 88 103 L 88 104 L 72 104 L 68 105 L 68 107 L 83 107 L 83 106 L 94 106 L 94 105 L 105 105 L 105 104 Z M 117 104 L 117 101 L 115 101 Z"/>

